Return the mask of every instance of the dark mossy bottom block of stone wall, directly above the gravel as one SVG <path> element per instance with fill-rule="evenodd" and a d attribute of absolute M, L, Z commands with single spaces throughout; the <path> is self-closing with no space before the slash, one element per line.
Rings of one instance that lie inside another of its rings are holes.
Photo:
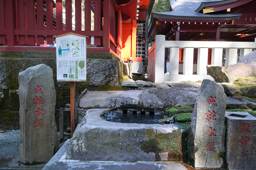
<path fill-rule="evenodd" d="M 0 110 L 0 130 L 15 130 L 20 128 L 19 111 Z"/>

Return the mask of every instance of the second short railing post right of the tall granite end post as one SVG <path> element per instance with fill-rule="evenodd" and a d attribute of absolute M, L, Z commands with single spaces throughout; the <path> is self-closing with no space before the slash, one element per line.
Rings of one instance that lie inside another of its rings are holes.
<path fill-rule="evenodd" d="M 193 56 L 194 56 L 194 48 L 184 48 L 183 74 L 186 74 L 186 75 L 193 74 Z"/>

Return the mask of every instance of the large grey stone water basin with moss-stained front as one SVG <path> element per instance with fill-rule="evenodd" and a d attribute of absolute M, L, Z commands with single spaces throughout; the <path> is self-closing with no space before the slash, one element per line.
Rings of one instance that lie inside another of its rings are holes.
<path fill-rule="evenodd" d="M 89 109 L 67 146 L 70 159 L 182 161 L 181 130 L 173 124 L 108 122 L 111 109 Z"/>

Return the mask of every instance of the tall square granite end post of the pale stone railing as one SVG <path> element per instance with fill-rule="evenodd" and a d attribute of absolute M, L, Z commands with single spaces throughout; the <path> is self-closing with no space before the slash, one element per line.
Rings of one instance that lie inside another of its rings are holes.
<path fill-rule="evenodd" d="M 155 83 L 164 81 L 164 48 L 165 36 L 156 35 Z"/>

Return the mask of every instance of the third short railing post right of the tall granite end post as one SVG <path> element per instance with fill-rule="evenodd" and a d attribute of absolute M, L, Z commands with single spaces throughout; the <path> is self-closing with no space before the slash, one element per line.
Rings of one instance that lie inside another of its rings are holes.
<path fill-rule="evenodd" d="M 208 48 L 198 48 L 197 75 L 207 75 Z"/>

